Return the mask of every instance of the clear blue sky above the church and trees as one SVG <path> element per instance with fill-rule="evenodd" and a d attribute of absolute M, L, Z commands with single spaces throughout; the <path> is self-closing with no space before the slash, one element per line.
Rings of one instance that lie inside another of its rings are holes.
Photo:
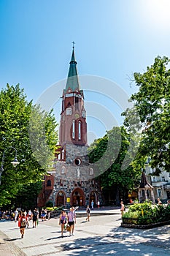
<path fill-rule="evenodd" d="M 144 72 L 156 56 L 170 56 L 169 12 L 169 0 L 0 0 L 0 89 L 20 83 L 36 102 L 66 78 L 74 40 L 79 75 L 115 81 L 130 97 L 136 86 L 128 77 Z M 121 110 L 108 96 L 87 91 L 85 99 L 110 110 L 121 124 Z M 93 124 L 89 116 L 92 137 L 103 136 L 103 121 Z"/>

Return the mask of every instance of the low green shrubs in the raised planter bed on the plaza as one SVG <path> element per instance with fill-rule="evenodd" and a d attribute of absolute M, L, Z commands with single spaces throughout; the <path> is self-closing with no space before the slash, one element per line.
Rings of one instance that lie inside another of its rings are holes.
<path fill-rule="evenodd" d="M 135 219 L 135 222 L 133 221 Z M 170 218 L 170 206 L 152 205 L 152 203 L 136 203 L 129 207 L 128 212 L 123 214 L 123 223 L 127 219 L 136 225 L 147 225 L 151 223 L 168 221 Z M 128 223 L 130 223 L 128 220 Z"/>

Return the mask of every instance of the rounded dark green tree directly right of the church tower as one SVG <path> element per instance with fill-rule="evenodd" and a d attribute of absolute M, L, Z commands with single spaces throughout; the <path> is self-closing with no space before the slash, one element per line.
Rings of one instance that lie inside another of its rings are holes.
<path fill-rule="evenodd" d="M 125 127 L 114 127 L 104 138 L 95 140 L 89 149 L 90 163 L 94 163 L 93 168 L 96 176 L 98 174 L 100 178 L 102 189 L 114 188 L 117 203 L 120 200 L 120 193 L 125 194 L 134 189 L 141 174 L 140 167 L 134 168 L 134 154 L 128 151 L 130 143 L 131 134 Z M 134 151 L 135 147 L 134 143 Z"/>

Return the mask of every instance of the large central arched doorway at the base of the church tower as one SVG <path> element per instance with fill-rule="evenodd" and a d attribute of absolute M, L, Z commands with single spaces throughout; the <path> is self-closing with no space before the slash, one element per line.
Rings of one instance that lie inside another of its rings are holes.
<path fill-rule="evenodd" d="M 85 206 L 85 194 L 82 189 L 77 188 L 73 190 L 71 203 L 72 206 Z"/>

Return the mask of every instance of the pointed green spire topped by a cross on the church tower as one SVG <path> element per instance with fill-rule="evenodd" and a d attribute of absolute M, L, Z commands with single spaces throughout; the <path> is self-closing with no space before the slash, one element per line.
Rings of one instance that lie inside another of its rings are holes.
<path fill-rule="evenodd" d="M 80 91 L 79 80 L 77 75 L 77 61 L 75 61 L 74 56 L 74 42 L 72 50 L 72 59 L 70 61 L 69 74 L 66 81 L 66 91 L 70 88 L 72 91 Z"/>

